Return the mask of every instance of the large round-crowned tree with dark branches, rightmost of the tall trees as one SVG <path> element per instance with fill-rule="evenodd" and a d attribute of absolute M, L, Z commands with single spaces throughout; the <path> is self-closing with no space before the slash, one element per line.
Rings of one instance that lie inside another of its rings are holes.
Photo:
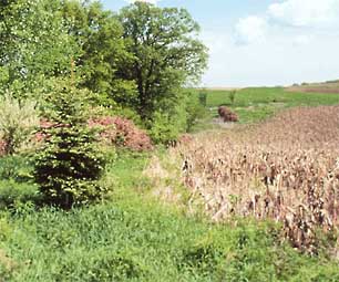
<path fill-rule="evenodd" d="M 206 48 L 196 39 L 199 27 L 185 9 L 145 2 L 122 9 L 120 21 L 134 60 L 116 74 L 136 82 L 137 109 L 144 119 L 152 122 L 156 112 L 157 118 L 160 112 L 167 116 L 183 97 L 182 86 L 198 80 L 206 67 Z"/>

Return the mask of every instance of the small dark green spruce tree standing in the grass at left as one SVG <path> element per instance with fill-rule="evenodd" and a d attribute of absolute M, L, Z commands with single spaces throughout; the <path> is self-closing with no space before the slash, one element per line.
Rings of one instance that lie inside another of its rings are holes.
<path fill-rule="evenodd" d="M 90 92 L 68 82 L 59 82 L 49 95 L 48 118 L 53 126 L 43 129 L 48 138 L 34 164 L 35 181 L 48 203 L 71 208 L 96 200 L 104 191 L 97 180 L 105 158 L 96 145 L 95 129 L 88 126 L 89 96 Z"/>

